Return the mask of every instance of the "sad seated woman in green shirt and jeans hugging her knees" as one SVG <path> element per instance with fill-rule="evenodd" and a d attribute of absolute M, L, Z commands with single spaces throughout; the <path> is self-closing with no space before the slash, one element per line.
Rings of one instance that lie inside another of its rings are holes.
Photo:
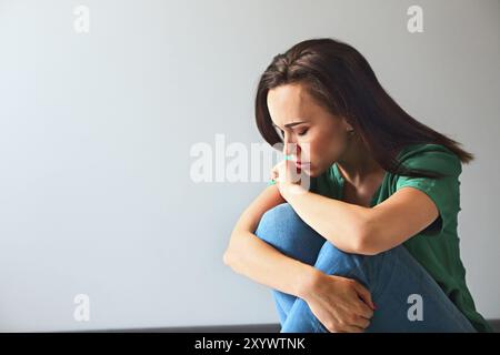
<path fill-rule="evenodd" d="M 282 333 L 492 331 L 457 235 L 472 154 L 411 118 L 332 39 L 274 57 L 256 115 L 287 155 L 237 222 L 224 263 L 273 288 Z"/>

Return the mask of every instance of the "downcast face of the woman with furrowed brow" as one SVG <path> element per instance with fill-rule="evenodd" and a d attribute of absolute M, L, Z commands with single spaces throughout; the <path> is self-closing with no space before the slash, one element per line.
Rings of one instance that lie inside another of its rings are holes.
<path fill-rule="evenodd" d="M 329 113 L 306 88 L 292 83 L 269 90 L 268 109 L 291 160 L 302 162 L 304 173 L 319 176 L 343 155 L 352 126 Z"/>

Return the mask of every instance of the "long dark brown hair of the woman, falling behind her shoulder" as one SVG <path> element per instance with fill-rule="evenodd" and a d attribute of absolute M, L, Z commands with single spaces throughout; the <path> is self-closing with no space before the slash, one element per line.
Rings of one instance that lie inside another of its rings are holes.
<path fill-rule="evenodd" d="M 272 125 L 267 106 L 269 90 L 288 83 L 302 83 L 330 113 L 344 116 L 360 135 L 373 159 L 386 170 L 408 176 L 441 178 L 438 172 L 409 170 L 398 162 L 398 152 L 409 144 L 440 144 L 461 162 L 473 154 L 461 143 L 413 119 L 386 92 L 373 70 L 351 45 L 330 38 L 310 39 L 278 54 L 260 78 L 256 97 L 257 126 L 274 146 L 282 142 Z"/>

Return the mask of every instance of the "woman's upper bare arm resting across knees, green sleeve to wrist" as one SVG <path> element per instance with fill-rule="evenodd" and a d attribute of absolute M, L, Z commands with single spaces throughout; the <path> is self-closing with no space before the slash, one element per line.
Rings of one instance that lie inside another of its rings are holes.
<path fill-rule="evenodd" d="M 403 187 L 369 209 L 308 191 L 284 199 L 314 231 L 347 253 L 376 255 L 429 226 L 438 216 L 434 202 L 422 191 Z"/>

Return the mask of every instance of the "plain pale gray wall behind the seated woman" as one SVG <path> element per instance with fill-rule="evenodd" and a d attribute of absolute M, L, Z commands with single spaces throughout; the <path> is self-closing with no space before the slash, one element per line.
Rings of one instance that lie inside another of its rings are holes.
<path fill-rule="evenodd" d="M 492 0 L 0 0 L 0 331 L 278 322 L 270 291 L 222 264 L 266 183 L 197 184 L 190 149 L 261 143 L 259 74 L 317 37 L 354 45 L 401 106 L 476 154 L 462 258 L 499 318 L 499 14 Z"/>

